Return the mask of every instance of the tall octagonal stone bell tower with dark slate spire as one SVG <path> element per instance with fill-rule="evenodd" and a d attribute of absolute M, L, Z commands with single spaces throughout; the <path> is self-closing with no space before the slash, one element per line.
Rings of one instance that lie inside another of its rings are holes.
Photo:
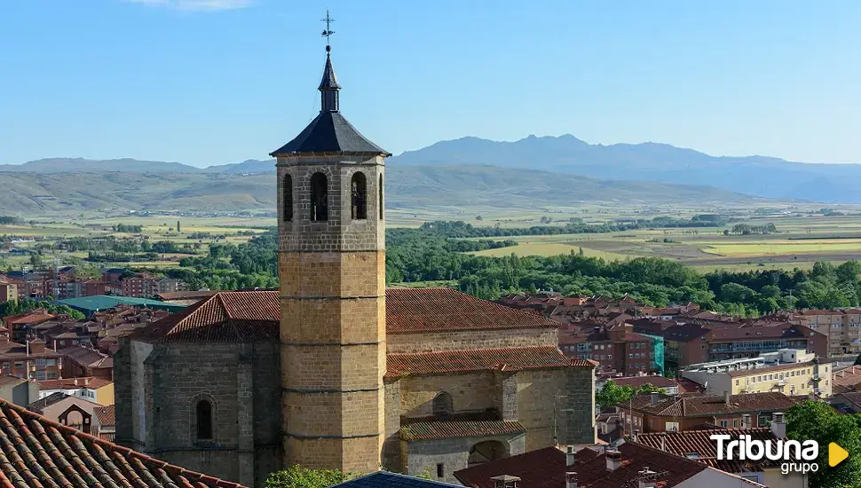
<path fill-rule="evenodd" d="M 383 445 L 383 160 L 391 154 L 339 111 L 330 51 L 320 114 L 271 154 L 284 466 L 367 473 L 379 468 Z"/>

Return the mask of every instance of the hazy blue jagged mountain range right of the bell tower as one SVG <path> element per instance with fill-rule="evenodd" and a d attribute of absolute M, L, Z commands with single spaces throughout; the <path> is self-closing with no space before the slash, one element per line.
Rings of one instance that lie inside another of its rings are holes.
<path fill-rule="evenodd" d="M 391 166 L 492 164 L 590 177 L 708 184 L 769 198 L 861 202 L 859 164 L 810 164 L 763 156 L 715 157 L 666 144 L 590 145 L 571 135 L 515 142 L 460 138 L 392 157 Z"/>

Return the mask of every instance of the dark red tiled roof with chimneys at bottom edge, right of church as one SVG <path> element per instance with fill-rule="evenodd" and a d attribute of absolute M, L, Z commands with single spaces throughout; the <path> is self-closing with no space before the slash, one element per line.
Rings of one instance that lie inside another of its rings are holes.
<path fill-rule="evenodd" d="M 648 467 L 658 473 L 660 488 L 672 488 L 708 469 L 699 462 L 646 445 L 625 443 L 619 446 L 619 452 L 620 467 L 612 471 L 607 470 L 606 454 L 587 456 L 579 452 L 574 455 L 573 467 L 566 467 L 565 453 L 549 447 L 455 471 L 454 477 L 474 488 L 494 488 L 490 478 L 499 475 L 517 476 L 521 485 L 529 488 L 565 488 L 565 471 L 574 471 L 579 488 L 637 488 L 639 472 Z"/>

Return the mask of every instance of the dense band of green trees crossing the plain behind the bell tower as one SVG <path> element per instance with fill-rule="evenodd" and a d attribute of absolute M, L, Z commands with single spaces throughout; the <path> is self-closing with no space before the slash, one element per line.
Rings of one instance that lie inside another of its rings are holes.
<path fill-rule="evenodd" d="M 486 299 L 535 289 L 614 297 L 628 294 L 652 305 L 690 301 L 709 310 L 740 316 L 861 303 L 861 263 L 857 261 L 839 266 L 818 262 L 810 271 L 702 274 L 656 257 L 605 261 L 583 256 L 582 252 L 559 256 L 473 256 L 462 252 L 460 246 L 471 251 L 481 246 L 502 247 L 509 242 L 453 240 L 463 233 L 486 232 L 483 228 L 470 229 L 476 228 L 463 223 L 433 223 L 418 229 L 389 229 L 387 281 L 454 280 L 462 291 Z M 213 245 L 209 256 L 188 257 L 180 262 L 180 268 L 166 273 L 185 279 L 192 287 L 276 287 L 275 248 L 275 232 L 271 231 L 239 246 Z"/>

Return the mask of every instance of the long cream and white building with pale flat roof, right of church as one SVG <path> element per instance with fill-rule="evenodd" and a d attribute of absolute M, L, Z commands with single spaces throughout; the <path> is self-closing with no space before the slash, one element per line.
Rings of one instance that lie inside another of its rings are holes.
<path fill-rule="evenodd" d="M 758 358 L 726 359 L 679 370 L 683 378 L 706 385 L 708 395 L 779 391 L 790 397 L 830 397 L 831 363 L 820 364 L 804 350 L 783 349 Z"/>

